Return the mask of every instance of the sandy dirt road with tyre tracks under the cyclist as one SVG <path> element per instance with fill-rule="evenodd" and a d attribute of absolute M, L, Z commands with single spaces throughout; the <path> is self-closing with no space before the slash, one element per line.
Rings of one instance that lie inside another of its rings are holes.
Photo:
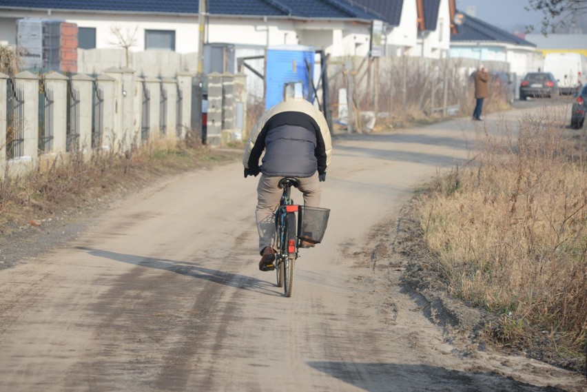
<path fill-rule="evenodd" d="M 487 123 L 515 126 L 519 114 Z M 302 249 L 292 298 L 258 271 L 258 179 L 240 164 L 125 200 L 78 238 L 0 271 L 0 390 L 585 390 L 579 375 L 444 336 L 400 286 L 389 251 L 398 212 L 466 156 L 464 135 L 480 126 L 338 141 L 322 196 L 328 231 Z"/>

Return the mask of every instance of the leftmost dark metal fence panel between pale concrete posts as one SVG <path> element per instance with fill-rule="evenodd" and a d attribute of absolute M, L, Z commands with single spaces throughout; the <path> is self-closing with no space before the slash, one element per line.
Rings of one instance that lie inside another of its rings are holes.
<path fill-rule="evenodd" d="M 6 158 L 12 159 L 24 152 L 24 93 L 12 78 L 6 90 Z"/>

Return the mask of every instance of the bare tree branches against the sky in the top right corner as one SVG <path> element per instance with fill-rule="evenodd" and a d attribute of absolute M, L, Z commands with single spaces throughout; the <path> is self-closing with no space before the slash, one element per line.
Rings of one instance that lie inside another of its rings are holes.
<path fill-rule="evenodd" d="M 528 0 L 526 10 L 542 11 L 542 28 L 540 31 L 546 35 L 548 32 L 556 32 L 577 19 L 584 18 L 587 14 L 587 0 Z M 531 32 L 535 26 L 528 25 L 526 30 Z"/>

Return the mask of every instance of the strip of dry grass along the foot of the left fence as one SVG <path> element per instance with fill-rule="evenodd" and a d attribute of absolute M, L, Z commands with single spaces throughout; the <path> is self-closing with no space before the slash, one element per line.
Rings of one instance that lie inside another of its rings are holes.
<path fill-rule="evenodd" d="M 241 156 L 240 149 L 220 151 L 201 145 L 194 132 L 187 132 L 179 143 L 162 139 L 124 154 L 110 148 L 94 150 L 91 158 L 81 151 L 44 156 L 25 174 L 7 165 L 0 179 L 0 235 L 30 220 L 148 185 L 160 176 L 236 161 Z"/>

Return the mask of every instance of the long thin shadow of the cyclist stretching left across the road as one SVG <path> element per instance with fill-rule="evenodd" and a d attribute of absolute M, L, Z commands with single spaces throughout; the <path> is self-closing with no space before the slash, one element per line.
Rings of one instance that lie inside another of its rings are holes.
<path fill-rule="evenodd" d="M 132 254 L 121 254 L 113 251 L 88 247 L 76 247 L 76 249 L 87 251 L 87 253 L 96 257 L 109 258 L 110 260 L 125 262 L 127 264 L 141 267 L 171 271 L 176 274 L 189 276 L 196 279 L 208 280 L 210 282 L 229 287 L 235 287 L 237 289 L 258 291 L 273 296 L 281 296 L 281 293 L 272 291 L 272 289 L 276 286 L 269 282 L 251 278 L 250 276 L 234 274 L 227 271 L 220 271 L 219 269 L 200 267 L 193 262 L 169 260 L 165 258 L 151 258 Z"/>

